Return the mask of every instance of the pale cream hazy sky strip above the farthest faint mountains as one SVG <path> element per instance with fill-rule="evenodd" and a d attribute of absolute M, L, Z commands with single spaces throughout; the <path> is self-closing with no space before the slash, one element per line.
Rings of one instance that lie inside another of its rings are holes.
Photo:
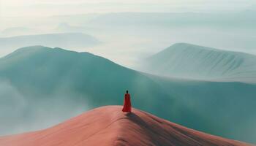
<path fill-rule="evenodd" d="M 0 0 L 0 15 L 44 16 L 97 12 L 230 12 L 249 9 L 254 5 L 254 0 Z"/>

